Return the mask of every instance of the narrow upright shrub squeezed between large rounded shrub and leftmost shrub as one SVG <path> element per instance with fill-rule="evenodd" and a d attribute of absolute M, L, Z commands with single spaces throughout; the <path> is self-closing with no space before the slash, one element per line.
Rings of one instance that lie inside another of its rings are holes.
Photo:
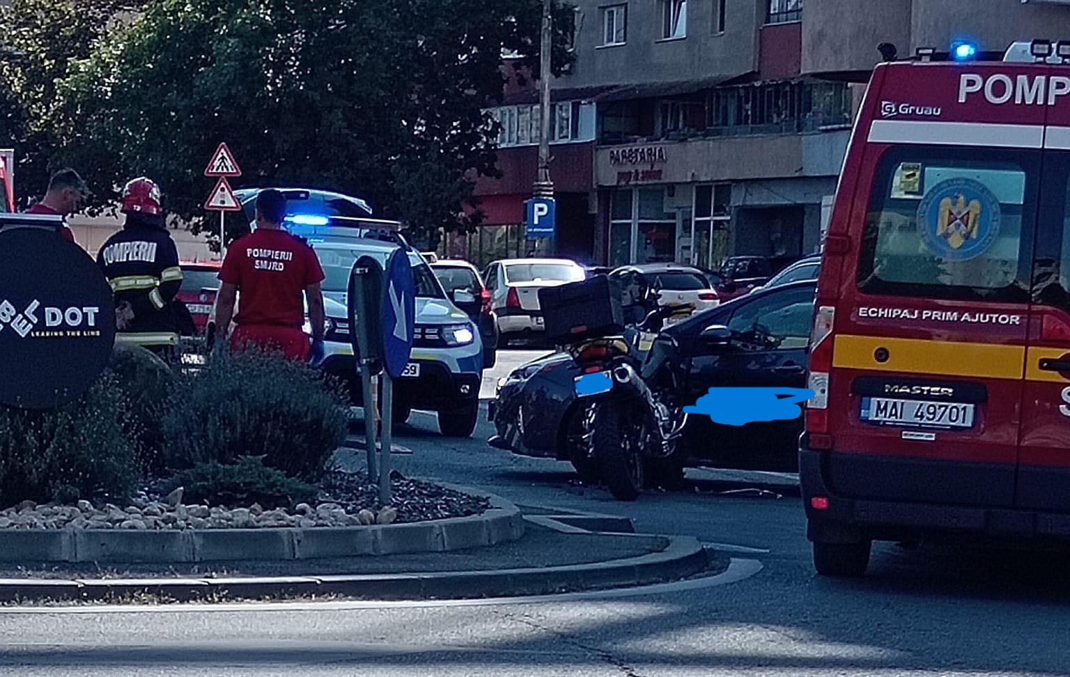
<path fill-rule="evenodd" d="M 108 372 L 131 403 L 133 429 L 128 432 L 137 470 L 158 475 L 164 467 L 163 419 L 175 389 L 174 373 L 152 351 L 124 343 L 116 343 Z"/>

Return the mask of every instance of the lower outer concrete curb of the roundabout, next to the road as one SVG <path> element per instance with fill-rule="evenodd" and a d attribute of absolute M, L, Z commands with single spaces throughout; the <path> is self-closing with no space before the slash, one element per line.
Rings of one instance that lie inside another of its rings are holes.
<path fill-rule="evenodd" d="M 703 571 L 706 550 L 690 536 L 635 535 L 660 539 L 660 552 L 563 567 L 373 575 L 249 579 L 0 580 L 0 600 L 102 600 L 157 595 L 179 601 L 346 595 L 377 600 L 472 599 L 552 595 L 576 589 L 649 585 Z"/>

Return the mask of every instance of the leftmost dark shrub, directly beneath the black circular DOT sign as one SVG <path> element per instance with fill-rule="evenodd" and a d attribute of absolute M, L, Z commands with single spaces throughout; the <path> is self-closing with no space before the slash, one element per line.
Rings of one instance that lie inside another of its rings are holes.
<path fill-rule="evenodd" d="M 0 506 L 125 499 L 136 481 L 128 411 L 110 376 L 58 410 L 0 407 Z"/>

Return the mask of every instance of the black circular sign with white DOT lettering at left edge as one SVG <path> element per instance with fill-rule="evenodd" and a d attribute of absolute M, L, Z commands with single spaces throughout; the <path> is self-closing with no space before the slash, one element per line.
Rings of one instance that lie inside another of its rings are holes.
<path fill-rule="evenodd" d="M 100 378 L 114 340 L 111 287 L 93 259 L 55 231 L 0 222 L 0 404 L 75 399 Z"/>

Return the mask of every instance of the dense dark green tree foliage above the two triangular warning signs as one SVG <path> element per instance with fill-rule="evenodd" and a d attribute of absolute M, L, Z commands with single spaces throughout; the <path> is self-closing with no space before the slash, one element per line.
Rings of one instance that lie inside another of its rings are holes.
<path fill-rule="evenodd" d="M 557 15 L 560 68 L 572 13 Z M 50 111 L 27 110 L 59 138 L 44 154 L 85 168 L 98 200 L 147 174 L 196 219 L 227 141 L 240 185 L 358 195 L 432 233 L 464 226 L 465 174 L 494 173 L 485 109 L 503 49 L 537 55 L 539 21 L 539 0 L 149 0 L 121 30 L 79 37 L 55 91 L 37 83 Z"/>

